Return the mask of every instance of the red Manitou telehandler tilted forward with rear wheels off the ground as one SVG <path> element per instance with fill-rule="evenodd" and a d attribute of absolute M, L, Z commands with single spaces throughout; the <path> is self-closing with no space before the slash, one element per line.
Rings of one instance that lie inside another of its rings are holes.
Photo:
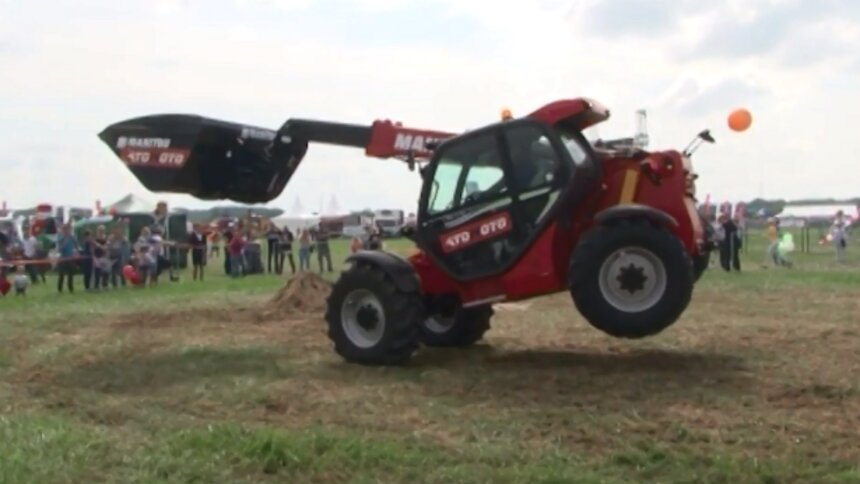
<path fill-rule="evenodd" d="M 570 291 L 594 327 L 654 335 L 690 302 L 712 248 L 695 202 L 693 145 L 649 152 L 589 143 L 609 111 L 585 98 L 463 134 L 290 119 L 278 131 L 156 115 L 99 137 L 148 189 L 262 203 L 284 189 L 309 143 L 420 165 L 418 251 L 351 255 L 325 319 L 335 350 L 363 364 L 406 362 L 420 344 L 468 346 L 493 304 Z M 698 145 L 696 144 L 698 142 Z"/>

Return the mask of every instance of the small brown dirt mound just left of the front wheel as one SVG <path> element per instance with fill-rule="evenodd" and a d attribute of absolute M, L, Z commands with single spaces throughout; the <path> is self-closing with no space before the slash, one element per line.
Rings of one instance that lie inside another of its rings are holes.
<path fill-rule="evenodd" d="M 264 310 L 266 316 L 321 316 L 331 284 L 313 272 L 300 272 L 287 281 Z"/>

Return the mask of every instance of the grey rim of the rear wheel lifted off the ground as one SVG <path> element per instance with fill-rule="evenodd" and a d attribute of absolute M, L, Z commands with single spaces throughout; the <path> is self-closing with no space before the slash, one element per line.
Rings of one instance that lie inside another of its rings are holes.
<path fill-rule="evenodd" d="M 620 311 L 646 311 L 666 293 L 666 267 L 650 250 L 641 247 L 617 250 L 600 268 L 600 292 Z"/>

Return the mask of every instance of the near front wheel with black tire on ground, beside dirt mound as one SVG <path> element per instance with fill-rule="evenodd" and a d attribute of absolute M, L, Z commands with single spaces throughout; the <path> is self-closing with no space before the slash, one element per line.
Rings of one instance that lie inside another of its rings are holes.
<path fill-rule="evenodd" d="M 345 360 L 399 365 L 418 349 L 424 306 L 418 293 L 398 288 L 379 268 L 360 264 L 335 282 L 325 319 L 328 337 Z"/>

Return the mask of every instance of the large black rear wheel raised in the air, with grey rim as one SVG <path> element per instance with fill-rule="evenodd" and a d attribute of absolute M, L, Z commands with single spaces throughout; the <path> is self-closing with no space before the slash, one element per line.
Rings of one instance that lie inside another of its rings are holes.
<path fill-rule="evenodd" d="M 666 229 L 624 220 L 583 236 L 569 281 L 576 308 L 592 326 L 619 338 L 644 338 L 672 325 L 687 308 L 693 264 Z"/>

